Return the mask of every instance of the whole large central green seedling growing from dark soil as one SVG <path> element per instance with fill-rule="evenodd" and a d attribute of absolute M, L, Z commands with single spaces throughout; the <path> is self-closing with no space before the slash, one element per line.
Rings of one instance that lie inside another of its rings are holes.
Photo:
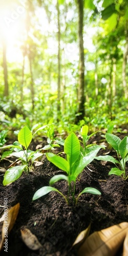
<path fill-rule="evenodd" d="M 100 191 L 97 190 L 96 188 L 86 187 L 81 191 L 78 197 L 75 198 L 75 187 L 76 187 L 77 177 L 79 176 L 79 174 L 82 173 L 82 170 L 84 169 L 84 167 L 86 167 L 89 163 L 93 161 L 93 159 L 96 157 L 96 154 L 98 153 L 101 147 L 102 146 L 96 145 L 95 149 L 93 148 L 93 151 L 91 151 L 90 149 L 90 152 L 83 157 L 80 153 L 80 142 L 77 136 L 72 132 L 66 138 L 64 143 L 64 152 L 67 155 L 67 159 L 64 159 L 53 153 L 46 153 L 47 159 L 67 174 L 67 175 L 61 174 L 61 175 L 53 176 L 50 179 L 49 184 L 53 185 L 55 182 L 59 180 L 66 180 L 68 182 L 68 187 L 69 187 L 67 197 L 63 195 L 58 189 L 52 186 L 44 186 L 36 191 L 36 193 L 33 196 L 33 200 L 36 200 L 48 194 L 51 191 L 57 191 L 63 198 L 65 198 L 68 204 L 69 204 L 70 195 L 72 196 L 74 204 L 77 203 L 78 198 L 83 193 L 101 195 Z"/>

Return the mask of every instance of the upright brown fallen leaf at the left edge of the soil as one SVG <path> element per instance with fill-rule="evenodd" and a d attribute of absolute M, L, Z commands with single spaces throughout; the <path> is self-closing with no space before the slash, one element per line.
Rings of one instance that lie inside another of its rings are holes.
<path fill-rule="evenodd" d="M 6 219 L 5 219 L 5 215 L 4 215 L 4 223 L 3 223 L 3 227 L 2 227 L 2 241 L 0 244 L 0 251 L 2 250 L 2 248 L 4 246 L 5 239 L 8 237 L 9 232 L 11 231 L 11 229 L 13 228 L 13 226 L 15 224 L 15 221 L 16 221 L 16 218 L 18 215 L 18 211 L 19 211 L 19 203 L 17 203 L 10 209 L 7 209 L 7 211 L 5 211 L 5 212 L 7 212 L 7 214 L 6 214 Z"/>

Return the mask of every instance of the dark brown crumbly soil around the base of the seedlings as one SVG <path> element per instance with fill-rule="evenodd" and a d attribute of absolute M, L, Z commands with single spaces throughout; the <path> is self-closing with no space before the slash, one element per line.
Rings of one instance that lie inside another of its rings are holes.
<path fill-rule="evenodd" d="M 119 134 L 121 139 L 127 134 Z M 100 141 L 97 134 L 92 141 Z M 105 152 L 108 149 L 106 148 Z M 101 152 L 99 152 L 101 155 Z M 102 151 L 104 154 L 104 152 Z M 109 154 L 115 156 L 113 151 Z M 7 168 L 7 160 L 1 161 L 0 166 Z M 90 234 L 96 230 L 110 227 L 114 224 L 128 221 L 128 181 L 119 176 L 108 175 L 110 163 L 94 160 L 86 167 L 80 181 L 76 182 L 76 196 L 85 187 L 95 187 L 101 191 L 101 196 L 82 194 L 76 206 L 68 205 L 55 191 L 32 201 L 37 189 L 49 185 L 49 180 L 56 174 L 61 174 L 56 166 L 44 156 L 42 164 L 37 166 L 29 175 L 25 173 L 15 182 L 3 186 L 3 174 L 0 176 L 0 205 L 8 198 L 8 207 L 20 203 L 16 222 L 8 237 L 8 254 L 4 250 L 1 255 L 9 256 L 74 256 L 72 248 L 78 234 L 91 223 Z M 127 168 L 128 170 L 128 168 Z M 126 172 L 127 172 L 126 170 Z M 128 172 L 127 172 L 128 174 Z M 68 193 L 65 181 L 55 184 L 64 195 Z M 0 207 L 0 214 L 3 208 Z M 1 217 L 1 216 L 0 216 Z M 2 236 L 0 222 L 0 241 Z M 20 229 L 28 228 L 42 245 L 39 250 L 29 249 L 21 238 Z M 118 252 L 118 256 L 121 252 Z M 88 256 L 85 254 L 85 256 Z M 98 256 L 98 255 L 97 255 Z"/>

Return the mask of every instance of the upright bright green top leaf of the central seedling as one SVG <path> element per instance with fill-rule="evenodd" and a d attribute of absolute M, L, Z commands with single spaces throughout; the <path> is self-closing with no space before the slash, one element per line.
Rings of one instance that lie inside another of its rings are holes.
<path fill-rule="evenodd" d="M 72 132 L 65 140 L 64 152 L 67 154 L 67 161 L 70 168 L 76 162 L 80 153 L 80 143 L 77 136 Z"/>

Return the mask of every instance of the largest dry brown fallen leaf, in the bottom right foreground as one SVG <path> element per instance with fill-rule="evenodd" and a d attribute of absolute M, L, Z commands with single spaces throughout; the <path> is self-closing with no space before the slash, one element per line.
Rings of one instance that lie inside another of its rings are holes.
<path fill-rule="evenodd" d="M 128 222 L 96 231 L 80 246 L 78 256 L 114 256 L 122 245 Z"/>

